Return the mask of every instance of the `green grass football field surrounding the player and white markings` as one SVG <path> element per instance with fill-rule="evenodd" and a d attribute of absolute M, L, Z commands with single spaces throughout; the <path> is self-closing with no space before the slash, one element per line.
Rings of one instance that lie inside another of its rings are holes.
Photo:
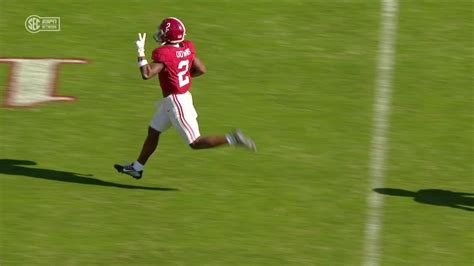
<path fill-rule="evenodd" d="M 29 33 L 34 14 L 61 31 Z M 112 165 L 136 159 L 161 97 L 134 41 L 149 56 L 166 16 L 209 70 L 201 133 L 239 127 L 258 152 L 170 130 L 137 181 Z M 473 195 L 454 193 L 474 193 L 473 4 L 401 0 L 398 24 L 381 264 L 473 265 L 455 207 Z M 361 265 L 379 28 L 378 0 L 1 0 L 0 57 L 89 63 L 60 68 L 77 101 L 0 109 L 0 265 Z"/>

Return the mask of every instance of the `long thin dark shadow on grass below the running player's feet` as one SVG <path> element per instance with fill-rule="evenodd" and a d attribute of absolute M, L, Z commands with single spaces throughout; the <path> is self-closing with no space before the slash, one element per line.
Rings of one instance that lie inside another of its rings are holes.
<path fill-rule="evenodd" d="M 86 185 L 106 186 L 106 187 L 117 187 L 126 189 L 144 189 L 144 190 L 161 190 L 161 191 L 176 191 L 176 188 L 165 188 L 165 187 L 144 187 L 134 185 L 123 185 L 114 182 L 102 181 L 100 179 L 92 178 L 90 175 L 77 174 L 72 172 L 44 169 L 44 168 L 33 168 L 25 167 L 36 165 L 36 162 L 27 160 L 12 160 L 12 159 L 0 159 L 0 173 L 7 175 L 19 175 L 28 176 L 33 178 L 78 183 Z"/>

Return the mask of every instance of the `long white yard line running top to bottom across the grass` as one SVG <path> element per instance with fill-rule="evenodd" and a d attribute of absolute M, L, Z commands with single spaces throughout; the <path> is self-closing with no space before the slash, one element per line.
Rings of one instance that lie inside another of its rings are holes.
<path fill-rule="evenodd" d="M 364 235 L 363 265 L 365 266 L 379 265 L 382 257 L 380 232 L 382 229 L 383 198 L 380 194 L 372 191 L 372 189 L 382 187 L 384 184 L 397 17 L 398 0 L 381 0 L 381 27 L 377 54 L 373 132 L 369 162 L 370 191 L 367 198 L 368 213 Z"/>

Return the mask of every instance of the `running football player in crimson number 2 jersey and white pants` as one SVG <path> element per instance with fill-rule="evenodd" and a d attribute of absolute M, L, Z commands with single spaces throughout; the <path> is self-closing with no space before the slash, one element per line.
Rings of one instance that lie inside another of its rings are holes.
<path fill-rule="evenodd" d="M 186 28 L 174 17 L 165 18 L 153 36 L 161 46 L 153 50 L 152 61 L 145 58 L 146 33 L 138 34 L 138 66 L 144 80 L 158 75 L 163 99 L 158 103 L 148 127 L 148 135 L 138 159 L 128 165 L 115 164 L 118 172 L 140 179 L 143 168 L 158 146 L 162 132 L 173 126 L 184 141 L 193 149 L 214 148 L 221 145 L 237 145 L 255 151 L 255 143 L 236 130 L 227 135 L 201 136 L 197 112 L 189 89 L 192 78 L 206 73 L 206 67 L 196 57 L 194 44 L 185 40 Z"/>

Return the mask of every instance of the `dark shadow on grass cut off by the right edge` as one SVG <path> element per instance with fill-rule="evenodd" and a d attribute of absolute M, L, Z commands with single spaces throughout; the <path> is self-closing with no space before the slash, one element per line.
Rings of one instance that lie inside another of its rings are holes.
<path fill-rule="evenodd" d="M 412 192 L 398 188 L 375 188 L 374 191 L 384 195 L 410 197 L 419 203 L 474 211 L 474 193 L 454 192 L 444 189 L 421 189 Z"/>

